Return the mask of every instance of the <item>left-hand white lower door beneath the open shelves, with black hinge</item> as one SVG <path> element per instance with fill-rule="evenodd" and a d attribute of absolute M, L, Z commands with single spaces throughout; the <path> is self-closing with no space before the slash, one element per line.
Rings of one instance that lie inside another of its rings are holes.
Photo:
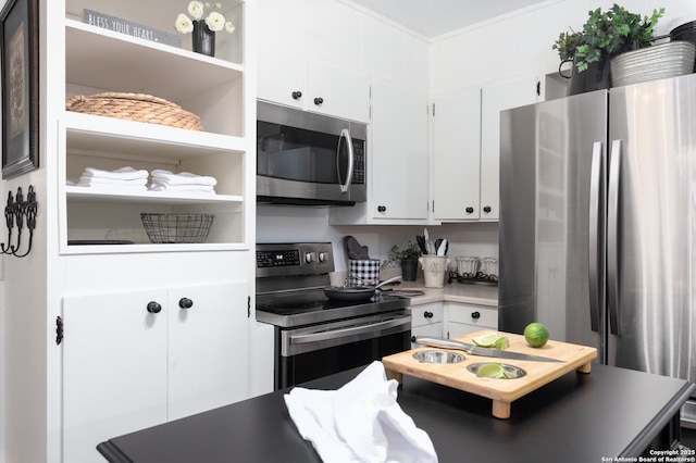
<path fill-rule="evenodd" d="M 166 421 L 165 290 L 63 299 L 63 461 Z M 150 313 L 148 303 L 161 305 Z"/>

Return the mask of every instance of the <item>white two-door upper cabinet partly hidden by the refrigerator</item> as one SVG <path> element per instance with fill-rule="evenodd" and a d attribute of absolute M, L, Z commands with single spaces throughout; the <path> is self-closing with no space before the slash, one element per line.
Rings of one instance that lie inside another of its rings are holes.
<path fill-rule="evenodd" d="M 434 100 L 433 217 L 497 222 L 500 111 L 536 102 L 536 77 L 440 95 Z"/>

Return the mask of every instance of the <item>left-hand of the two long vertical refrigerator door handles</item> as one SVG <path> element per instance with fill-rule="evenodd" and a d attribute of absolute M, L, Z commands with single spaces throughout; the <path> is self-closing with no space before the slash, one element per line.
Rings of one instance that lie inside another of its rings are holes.
<path fill-rule="evenodd" d="M 589 325 L 593 331 L 599 333 L 599 317 L 601 313 L 601 292 L 599 286 L 602 239 L 601 215 L 604 208 L 601 183 L 602 146 L 595 141 L 592 148 L 592 164 L 589 172 Z"/>

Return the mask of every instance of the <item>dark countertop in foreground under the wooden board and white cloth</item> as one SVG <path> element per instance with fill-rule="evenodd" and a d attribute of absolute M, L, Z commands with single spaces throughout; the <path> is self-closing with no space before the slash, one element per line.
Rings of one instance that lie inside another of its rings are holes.
<path fill-rule="evenodd" d="M 336 389 L 361 370 L 306 386 Z M 427 431 L 442 463 L 594 463 L 639 455 L 674 423 L 695 389 L 681 379 L 593 364 L 591 374 L 569 373 L 517 400 L 509 420 L 490 415 L 489 399 L 409 376 L 398 402 Z M 320 462 L 287 413 L 283 393 L 288 390 L 115 437 L 98 448 L 110 462 Z"/>

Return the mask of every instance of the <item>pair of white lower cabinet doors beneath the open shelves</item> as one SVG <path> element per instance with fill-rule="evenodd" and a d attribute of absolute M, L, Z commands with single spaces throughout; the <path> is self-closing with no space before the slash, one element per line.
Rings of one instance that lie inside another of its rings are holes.
<path fill-rule="evenodd" d="M 63 299 L 63 461 L 249 396 L 247 283 Z"/>

